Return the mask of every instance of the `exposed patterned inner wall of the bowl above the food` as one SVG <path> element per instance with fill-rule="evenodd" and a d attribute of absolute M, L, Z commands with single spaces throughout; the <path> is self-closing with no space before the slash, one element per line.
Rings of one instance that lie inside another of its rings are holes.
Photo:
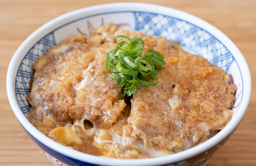
<path fill-rule="evenodd" d="M 26 95 L 29 92 L 29 80 L 34 74 L 31 65 L 35 60 L 42 56 L 49 47 L 57 45 L 64 38 L 78 33 L 90 35 L 94 28 L 110 22 L 127 30 L 138 30 L 147 35 L 163 36 L 167 40 L 177 41 L 184 50 L 201 55 L 212 64 L 227 71 L 231 83 L 237 84 L 238 88 L 233 108 L 236 113 L 243 97 L 243 77 L 235 57 L 219 39 L 207 30 L 173 16 L 153 12 L 113 11 L 67 22 L 35 42 L 19 64 L 16 74 L 16 100 L 24 114 L 27 114 L 30 108 Z"/>

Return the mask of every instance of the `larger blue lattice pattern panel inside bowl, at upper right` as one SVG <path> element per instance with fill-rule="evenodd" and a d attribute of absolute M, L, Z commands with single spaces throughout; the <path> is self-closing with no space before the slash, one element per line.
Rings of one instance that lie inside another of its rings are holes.
<path fill-rule="evenodd" d="M 180 42 L 185 48 L 207 58 L 214 65 L 228 71 L 234 57 L 220 41 L 202 28 L 170 16 L 149 12 L 135 12 L 136 30 L 148 35 L 161 35 Z"/>

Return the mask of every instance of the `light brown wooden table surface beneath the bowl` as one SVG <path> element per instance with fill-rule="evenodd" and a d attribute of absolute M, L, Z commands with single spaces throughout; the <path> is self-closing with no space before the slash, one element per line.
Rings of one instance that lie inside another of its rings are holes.
<path fill-rule="evenodd" d="M 51 166 L 18 123 L 6 93 L 6 72 L 19 45 L 37 28 L 66 12 L 118 0 L 0 0 L 0 165 Z M 132 1 L 135 2 L 135 1 Z M 252 75 L 252 96 L 243 120 L 207 166 L 256 166 L 256 1 L 138 0 L 179 9 L 208 21 L 241 50 Z"/>

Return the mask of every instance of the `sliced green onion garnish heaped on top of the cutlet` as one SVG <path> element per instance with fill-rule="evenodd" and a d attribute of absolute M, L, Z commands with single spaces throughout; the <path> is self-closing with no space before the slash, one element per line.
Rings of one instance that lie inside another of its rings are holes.
<path fill-rule="evenodd" d="M 118 39 L 122 39 L 118 43 Z M 141 54 L 144 50 L 144 41 L 140 38 L 129 38 L 124 35 L 116 37 L 117 48 L 107 53 L 106 69 L 115 75 L 109 74 L 118 86 L 124 87 L 124 94 L 119 96 L 130 96 L 140 87 L 140 84 L 146 86 L 156 86 L 158 79 L 156 74 L 159 70 L 164 69 L 164 56 L 159 52 L 147 49 L 144 57 Z M 154 82 L 150 82 L 154 80 Z"/>

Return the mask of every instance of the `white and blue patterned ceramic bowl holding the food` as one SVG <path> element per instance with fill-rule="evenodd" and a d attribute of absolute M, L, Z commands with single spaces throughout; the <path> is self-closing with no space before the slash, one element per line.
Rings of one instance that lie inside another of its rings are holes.
<path fill-rule="evenodd" d="M 201 55 L 227 71 L 237 86 L 234 114 L 227 126 L 202 144 L 176 154 L 148 159 L 111 159 L 84 154 L 65 147 L 39 132 L 26 117 L 31 65 L 52 45 L 81 33 L 89 35 L 102 24 L 114 22 L 127 30 L 161 35 L 181 44 L 184 50 Z M 7 93 L 13 112 L 29 137 L 53 165 L 61 166 L 203 166 L 232 135 L 243 117 L 251 93 L 251 77 L 245 58 L 220 30 L 188 13 L 146 3 L 110 3 L 66 13 L 31 34 L 13 55 L 7 72 Z"/>

